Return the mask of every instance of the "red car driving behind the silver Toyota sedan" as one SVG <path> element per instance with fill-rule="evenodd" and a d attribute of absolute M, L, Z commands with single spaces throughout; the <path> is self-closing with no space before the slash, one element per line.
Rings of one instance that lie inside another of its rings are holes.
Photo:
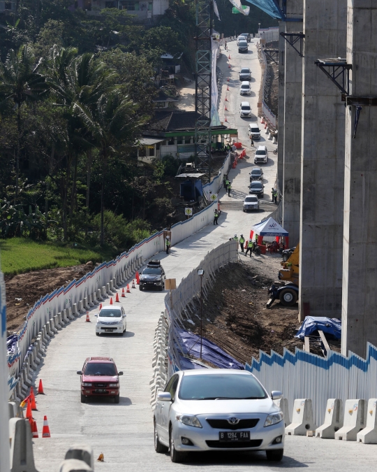
<path fill-rule="evenodd" d="M 89 396 L 108 396 L 119 403 L 119 376 L 123 372 L 117 371 L 111 357 L 87 357 L 77 373 L 81 376 L 81 403 Z"/>

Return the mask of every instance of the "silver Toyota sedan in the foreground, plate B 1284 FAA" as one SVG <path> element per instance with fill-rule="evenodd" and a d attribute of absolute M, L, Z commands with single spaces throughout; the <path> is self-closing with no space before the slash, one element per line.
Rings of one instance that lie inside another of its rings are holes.
<path fill-rule="evenodd" d="M 283 413 L 247 371 L 205 369 L 175 373 L 154 409 L 154 448 L 184 462 L 188 452 L 265 450 L 280 461 Z"/>

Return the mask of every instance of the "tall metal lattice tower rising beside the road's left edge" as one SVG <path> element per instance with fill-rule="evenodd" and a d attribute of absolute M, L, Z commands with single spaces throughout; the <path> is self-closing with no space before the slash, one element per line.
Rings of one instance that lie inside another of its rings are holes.
<path fill-rule="evenodd" d="M 195 167 L 210 182 L 212 92 L 212 0 L 196 0 Z"/>

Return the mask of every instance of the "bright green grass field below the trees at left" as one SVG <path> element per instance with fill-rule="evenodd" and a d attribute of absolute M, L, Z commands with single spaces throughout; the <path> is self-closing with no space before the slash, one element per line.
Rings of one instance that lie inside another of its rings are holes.
<path fill-rule="evenodd" d="M 110 261 L 110 250 L 89 249 L 73 243 L 36 242 L 25 238 L 0 240 L 0 262 L 4 275 L 15 275 L 52 267 L 69 267 L 88 261 Z"/>

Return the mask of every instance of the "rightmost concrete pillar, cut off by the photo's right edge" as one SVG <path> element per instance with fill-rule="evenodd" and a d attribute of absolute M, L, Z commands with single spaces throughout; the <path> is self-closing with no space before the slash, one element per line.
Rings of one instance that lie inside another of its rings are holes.
<path fill-rule="evenodd" d="M 348 0 L 347 62 L 353 100 L 377 96 L 376 1 Z M 351 109 L 350 109 L 351 108 Z M 346 108 L 341 351 L 377 345 L 377 106 Z"/>

